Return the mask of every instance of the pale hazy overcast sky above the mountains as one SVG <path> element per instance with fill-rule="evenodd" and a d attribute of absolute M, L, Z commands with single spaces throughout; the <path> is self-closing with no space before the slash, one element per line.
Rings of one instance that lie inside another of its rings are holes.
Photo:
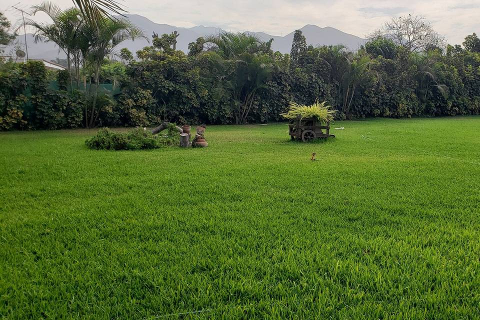
<path fill-rule="evenodd" d="M 21 7 L 41 0 L 21 0 Z M 54 1 L 71 6 L 71 0 Z M 0 10 L 16 20 L 9 8 L 18 0 L 1 0 Z M 264 31 L 285 35 L 305 24 L 332 26 L 365 36 L 392 15 L 415 13 L 429 19 L 449 43 L 480 33 L 480 0 L 125 0 L 129 13 L 157 23 L 190 27 L 206 25 L 231 31 Z"/>

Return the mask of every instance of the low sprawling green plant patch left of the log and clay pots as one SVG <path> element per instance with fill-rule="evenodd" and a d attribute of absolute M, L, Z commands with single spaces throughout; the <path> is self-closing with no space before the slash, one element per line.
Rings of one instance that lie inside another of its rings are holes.
<path fill-rule="evenodd" d="M 135 128 L 127 133 L 101 128 L 85 141 L 87 147 L 95 150 L 145 150 L 173 143 L 172 135 L 155 136 L 143 128 Z"/>

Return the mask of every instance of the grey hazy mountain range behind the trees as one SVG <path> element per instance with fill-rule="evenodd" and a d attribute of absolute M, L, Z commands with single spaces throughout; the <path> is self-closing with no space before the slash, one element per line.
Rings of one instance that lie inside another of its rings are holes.
<path fill-rule="evenodd" d="M 127 18 L 135 24 L 136 26 L 140 27 L 145 31 L 145 35 L 151 39 L 151 35 L 153 31 L 162 34 L 162 33 L 170 33 L 172 31 L 178 31 L 179 36 L 177 38 L 176 47 L 179 50 L 183 50 L 185 52 L 188 51 L 188 43 L 195 41 L 195 39 L 199 36 L 206 36 L 209 34 L 215 34 L 218 32 L 223 31 L 221 28 L 212 27 L 212 26 L 194 26 L 190 28 L 184 27 L 177 27 L 168 24 L 160 24 L 155 23 L 144 16 L 138 14 L 126 14 Z M 355 50 L 361 44 L 365 43 L 365 39 L 360 38 L 358 36 L 345 33 L 338 29 L 335 29 L 330 26 L 326 27 L 319 27 L 313 24 L 307 24 L 300 28 L 303 32 L 303 35 L 306 38 L 307 44 L 312 45 L 334 45 L 334 44 L 344 44 L 348 48 Z M 285 36 L 278 36 L 278 35 L 270 35 L 265 32 L 251 32 L 247 31 L 248 33 L 255 34 L 263 41 L 268 41 L 270 38 L 273 38 L 272 49 L 274 51 L 278 50 L 282 53 L 290 52 L 291 42 L 293 40 L 294 31 L 288 33 Z M 17 36 L 17 45 L 21 44 L 22 49 L 24 50 L 24 36 L 23 34 Z M 33 35 L 27 34 L 27 43 L 28 43 L 28 55 L 34 58 L 42 58 L 42 59 L 55 59 L 56 57 L 63 58 L 64 54 L 62 52 L 58 52 L 58 47 L 53 42 L 39 42 L 34 43 Z M 124 41 L 118 45 L 118 50 L 122 47 L 127 47 L 133 53 L 137 50 L 141 49 L 146 45 L 151 45 L 148 40 L 146 39 L 137 39 L 135 41 Z M 4 54 L 11 54 L 14 52 L 14 46 L 7 47 L 5 49 Z M 14 53 L 13 53 L 14 54 Z"/>

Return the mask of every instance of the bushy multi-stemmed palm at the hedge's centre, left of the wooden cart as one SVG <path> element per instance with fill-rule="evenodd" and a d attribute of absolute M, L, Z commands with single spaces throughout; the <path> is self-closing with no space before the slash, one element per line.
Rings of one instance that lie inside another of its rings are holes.
<path fill-rule="evenodd" d="M 217 68 L 217 96 L 229 98 L 236 123 L 245 123 L 256 93 L 271 77 L 271 49 L 256 36 L 241 32 L 210 35 L 205 43 L 217 46 L 216 52 L 209 53 Z"/>

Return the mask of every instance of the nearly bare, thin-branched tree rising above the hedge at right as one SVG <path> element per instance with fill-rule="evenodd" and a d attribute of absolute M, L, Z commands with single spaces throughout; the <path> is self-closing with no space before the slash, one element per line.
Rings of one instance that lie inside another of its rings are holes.
<path fill-rule="evenodd" d="M 445 46 L 445 37 L 438 34 L 429 21 L 421 15 L 393 17 L 383 27 L 370 34 L 370 39 L 390 38 L 410 52 L 426 51 L 429 48 Z"/>

